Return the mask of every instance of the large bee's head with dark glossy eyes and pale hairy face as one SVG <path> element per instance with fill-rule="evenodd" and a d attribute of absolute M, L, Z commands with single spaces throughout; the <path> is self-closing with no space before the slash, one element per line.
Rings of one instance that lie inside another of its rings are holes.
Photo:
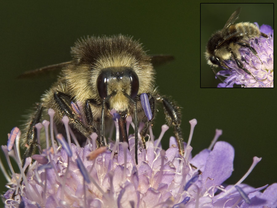
<path fill-rule="evenodd" d="M 126 111 L 129 96 L 135 98 L 139 91 L 138 75 L 130 67 L 103 69 L 97 78 L 97 91 L 101 99 L 107 99 L 110 109 Z"/>

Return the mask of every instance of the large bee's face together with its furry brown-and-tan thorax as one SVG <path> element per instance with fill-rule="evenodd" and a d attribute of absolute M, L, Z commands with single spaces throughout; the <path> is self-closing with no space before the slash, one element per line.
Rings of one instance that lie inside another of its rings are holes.
<path fill-rule="evenodd" d="M 105 100 L 107 109 L 126 112 L 133 106 L 131 99 L 154 90 L 151 58 L 131 37 L 88 37 L 77 41 L 71 52 L 73 61 L 61 79 L 75 100 Z"/>

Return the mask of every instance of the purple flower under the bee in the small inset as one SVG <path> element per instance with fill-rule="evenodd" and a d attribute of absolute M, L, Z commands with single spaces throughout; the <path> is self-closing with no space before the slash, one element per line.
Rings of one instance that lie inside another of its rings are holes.
<path fill-rule="evenodd" d="M 259 27 L 258 23 L 255 22 L 255 24 Z M 239 49 L 243 66 L 251 72 L 257 82 L 251 75 L 240 69 L 234 60 L 229 60 L 224 63 L 231 68 L 231 71 L 218 72 L 218 75 L 226 77 L 224 80 L 226 83 L 219 83 L 218 88 L 232 88 L 234 84 L 247 88 L 273 88 L 273 29 L 269 25 L 262 25 L 259 29 L 268 35 L 268 38 L 260 36 L 250 39 L 249 43 L 257 51 L 263 64 L 249 48 Z"/>

